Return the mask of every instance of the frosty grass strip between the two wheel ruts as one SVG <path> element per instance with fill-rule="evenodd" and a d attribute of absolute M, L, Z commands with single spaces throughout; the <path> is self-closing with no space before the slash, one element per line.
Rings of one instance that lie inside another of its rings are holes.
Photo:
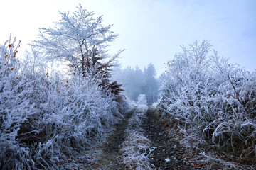
<path fill-rule="evenodd" d="M 149 163 L 149 154 L 154 150 L 152 143 L 143 135 L 142 121 L 147 106 L 137 106 L 134 115 L 129 119 L 125 135 L 127 136 L 120 149 L 122 164 L 125 169 L 153 169 Z"/>

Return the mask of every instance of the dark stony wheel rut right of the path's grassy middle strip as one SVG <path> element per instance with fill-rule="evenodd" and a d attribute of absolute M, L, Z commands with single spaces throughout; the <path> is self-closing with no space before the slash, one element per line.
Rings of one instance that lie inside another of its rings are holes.
<path fill-rule="evenodd" d="M 154 143 L 154 151 L 149 157 L 156 169 L 193 169 L 183 160 L 183 148 L 178 142 L 171 140 L 166 130 L 158 121 L 156 113 L 149 108 L 142 128 L 145 135 Z"/>

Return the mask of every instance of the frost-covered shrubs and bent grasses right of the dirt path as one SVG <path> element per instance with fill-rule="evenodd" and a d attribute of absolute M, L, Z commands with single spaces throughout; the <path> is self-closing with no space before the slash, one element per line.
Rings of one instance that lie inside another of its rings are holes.
<path fill-rule="evenodd" d="M 211 145 L 255 163 L 255 72 L 238 69 L 214 50 L 210 55 L 208 41 L 182 48 L 162 76 L 158 110 L 178 125 L 187 147 Z"/>

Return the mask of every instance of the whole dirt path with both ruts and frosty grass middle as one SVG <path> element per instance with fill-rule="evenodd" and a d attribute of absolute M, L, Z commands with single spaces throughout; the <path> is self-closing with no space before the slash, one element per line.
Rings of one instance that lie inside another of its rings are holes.
<path fill-rule="evenodd" d="M 129 111 L 114 125 L 105 142 L 87 157 L 70 159 L 65 170 L 193 169 L 183 159 L 183 148 L 167 134 L 154 109 Z M 153 151 L 152 151 L 153 150 Z"/>

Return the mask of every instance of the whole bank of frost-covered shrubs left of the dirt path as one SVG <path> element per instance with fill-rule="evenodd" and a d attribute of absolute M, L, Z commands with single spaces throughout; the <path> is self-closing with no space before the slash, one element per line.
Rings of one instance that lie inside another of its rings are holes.
<path fill-rule="evenodd" d="M 0 169 L 55 169 L 100 140 L 127 105 L 93 76 L 32 72 L 31 62 L 17 60 L 14 42 L 0 49 Z"/>

